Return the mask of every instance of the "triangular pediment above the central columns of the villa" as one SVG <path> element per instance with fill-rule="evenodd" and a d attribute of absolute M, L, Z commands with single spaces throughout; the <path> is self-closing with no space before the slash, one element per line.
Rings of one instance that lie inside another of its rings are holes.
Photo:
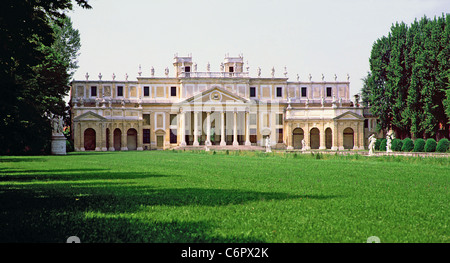
<path fill-rule="evenodd" d="M 193 102 L 215 102 L 215 103 L 226 103 L 226 102 L 241 102 L 245 103 L 248 100 L 230 92 L 228 90 L 222 89 L 220 87 L 213 87 L 206 91 L 200 92 L 188 99 L 186 99 L 185 103 L 193 103 Z"/>

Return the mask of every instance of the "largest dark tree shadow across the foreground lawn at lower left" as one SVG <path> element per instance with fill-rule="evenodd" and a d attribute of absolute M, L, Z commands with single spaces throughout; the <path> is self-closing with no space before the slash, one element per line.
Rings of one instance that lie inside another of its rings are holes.
<path fill-rule="evenodd" d="M 76 186 L 76 187 L 73 187 Z M 218 237 L 215 218 L 169 222 L 135 217 L 151 206 L 227 206 L 248 202 L 337 196 L 304 196 L 226 189 L 155 189 L 128 183 L 0 185 L 0 242 L 263 242 L 257 237 Z M 86 212 L 100 217 L 86 217 Z M 121 216 L 125 215 L 125 216 Z M 146 217 L 147 218 L 147 217 Z"/>

